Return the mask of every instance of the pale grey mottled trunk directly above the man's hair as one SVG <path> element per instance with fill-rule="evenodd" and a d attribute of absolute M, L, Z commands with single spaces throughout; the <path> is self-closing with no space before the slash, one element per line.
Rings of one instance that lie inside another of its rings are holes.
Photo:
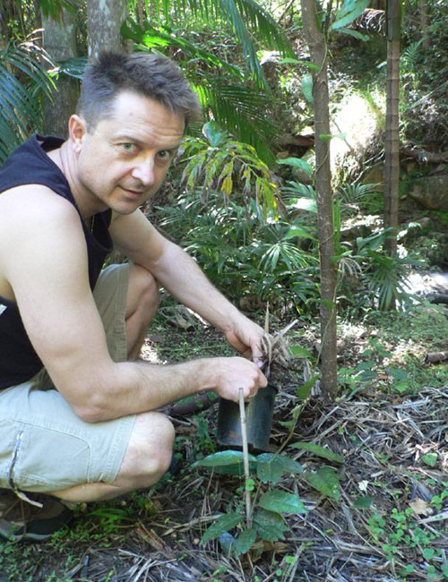
<path fill-rule="evenodd" d="M 129 52 L 129 43 L 120 35 L 126 17 L 126 0 L 88 0 L 87 33 L 89 57 L 102 51 Z"/>

